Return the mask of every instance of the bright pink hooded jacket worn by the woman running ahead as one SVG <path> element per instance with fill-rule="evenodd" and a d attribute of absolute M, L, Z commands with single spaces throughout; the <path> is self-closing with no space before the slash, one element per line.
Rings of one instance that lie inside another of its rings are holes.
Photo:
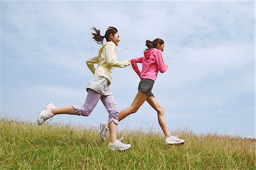
<path fill-rule="evenodd" d="M 139 71 L 137 63 L 142 63 L 142 72 Z M 154 81 L 158 76 L 158 71 L 164 73 L 168 69 L 168 66 L 164 65 L 162 51 L 156 48 L 144 51 L 143 57 L 131 59 L 131 66 L 139 77 Z"/>

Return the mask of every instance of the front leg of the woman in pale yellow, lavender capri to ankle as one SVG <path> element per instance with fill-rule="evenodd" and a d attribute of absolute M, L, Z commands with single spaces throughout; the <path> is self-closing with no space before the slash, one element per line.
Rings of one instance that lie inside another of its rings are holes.
<path fill-rule="evenodd" d="M 118 107 L 113 95 L 101 96 L 101 101 L 109 113 L 109 135 L 110 142 L 117 140 Z"/>

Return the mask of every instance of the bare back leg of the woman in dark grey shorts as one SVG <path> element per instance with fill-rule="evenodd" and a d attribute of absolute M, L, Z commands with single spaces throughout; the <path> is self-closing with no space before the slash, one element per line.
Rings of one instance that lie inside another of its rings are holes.
<path fill-rule="evenodd" d="M 141 105 L 144 103 L 146 99 L 147 99 L 147 96 L 145 92 L 138 92 L 136 97 L 134 98 L 133 103 L 131 103 L 131 106 L 122 110 L 118 114 L 118 121 L 121 121 L 123 118 L 127 117 L 127 115 L 131 113 L 135 113 L 139 109 L 139 107 L 141 107 Z"/>

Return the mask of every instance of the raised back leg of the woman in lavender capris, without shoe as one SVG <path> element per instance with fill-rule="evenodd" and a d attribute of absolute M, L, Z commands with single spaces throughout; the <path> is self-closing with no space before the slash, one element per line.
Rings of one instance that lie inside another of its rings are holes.
<path fill-rule="evenodd" d="M 74 115 L 88 116 L 90 113 L 92 113 L 92 110 L 97 105 L 100 98 L 101 98 L 101 94 L 98 94 L 97 92 L 94 92 L 92 89 L 89 89 L 83 106 L 68 106 L 68 107 L 54 108 L 52 109 L 52 113 L 54 115 L 74 114 Z"/>

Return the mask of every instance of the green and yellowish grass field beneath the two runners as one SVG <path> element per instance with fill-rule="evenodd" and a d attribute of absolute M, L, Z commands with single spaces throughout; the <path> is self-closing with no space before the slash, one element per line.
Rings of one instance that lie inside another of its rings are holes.
<path fill-rule="evenodd" d="M 0 169 L 255 169 L 255 140 L 177 131 L 183 146 L 163 134 L 119 131 L 130 150 L 111 151 L 98 129 L 0 120 Z"/>

